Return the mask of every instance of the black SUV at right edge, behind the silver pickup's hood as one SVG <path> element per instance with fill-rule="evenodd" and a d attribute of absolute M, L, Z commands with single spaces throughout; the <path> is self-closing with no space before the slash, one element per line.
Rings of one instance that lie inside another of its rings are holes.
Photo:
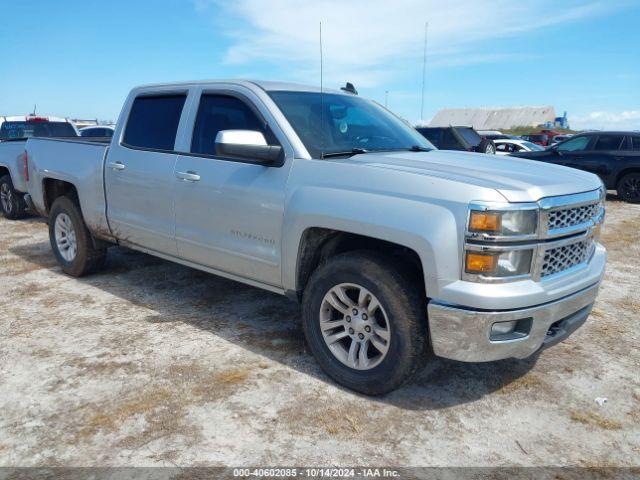
<path fill-rule="evenodd" d="M 512 155 L 595 173 L 623 200 L 640 202 L 640 133 L 581 133 L 541 152 Z"/>

